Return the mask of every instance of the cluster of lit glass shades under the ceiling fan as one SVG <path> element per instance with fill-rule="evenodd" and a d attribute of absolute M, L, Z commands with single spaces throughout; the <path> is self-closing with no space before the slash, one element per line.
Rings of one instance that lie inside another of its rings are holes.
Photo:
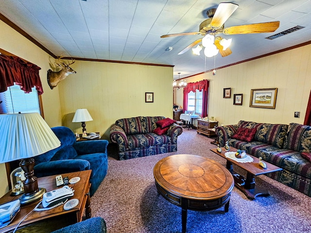
<path fill-rule="evenodd" d="M 211 35 L 211 34 L 206 34 L 203 38 L 202 38 L 202 45 L 198 45 L 196 48 L 192 48 L 192 52 L 196 55 L 200 55 L 200 51 L 203 49 L 203 47 L 205 47 L 204 49 L 204 55 L 207 57 L 213 57 L 216 56 L 219 52 L 219 50 L 217 49 L 216 45 L 214 44 L 214 41 L 218 40 L 219 44 L 223 47 L 223 50 L 226 50 L 230 44 L 232 39 L 225 39 L 222 38 L 221 36 L 217 36 L 215 38 L 215 36 Z"/>

